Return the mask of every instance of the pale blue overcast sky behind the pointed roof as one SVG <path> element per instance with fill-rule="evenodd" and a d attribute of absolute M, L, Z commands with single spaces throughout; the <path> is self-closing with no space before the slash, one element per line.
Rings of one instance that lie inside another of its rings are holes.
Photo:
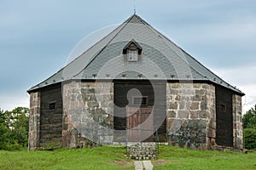
<path fill-rule="evenodd" d="M 91 32 L 133 14 L 164 32 L 256 104 L 255 0 L 1 0 L 0 108 L 29 106 L 26 90 L 66 65 Z"/>

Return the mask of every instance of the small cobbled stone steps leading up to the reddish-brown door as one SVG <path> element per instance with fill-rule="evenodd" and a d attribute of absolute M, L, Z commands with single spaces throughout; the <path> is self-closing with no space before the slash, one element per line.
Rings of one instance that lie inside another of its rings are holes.
<path fill-rule="evenodd" d="M 128 157 L 135 160 L 152 160 L 157 159 L 155 143 L 139 143 L 127 146 Z"/>

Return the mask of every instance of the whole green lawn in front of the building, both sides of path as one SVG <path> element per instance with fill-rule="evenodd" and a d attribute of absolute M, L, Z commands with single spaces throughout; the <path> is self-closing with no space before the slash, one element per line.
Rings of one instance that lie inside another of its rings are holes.
<path fill-rule="evenodd" d="M 154 169 L 256 169 L 256 152 L 185 150 L 160 146 Z M 134 169 L 125 147 L 103 146 L 81 150 L 4 151 L 0 169 Z"/>

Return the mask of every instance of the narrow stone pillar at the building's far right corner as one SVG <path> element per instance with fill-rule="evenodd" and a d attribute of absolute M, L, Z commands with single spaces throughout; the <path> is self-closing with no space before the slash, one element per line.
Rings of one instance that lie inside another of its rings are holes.
<path fill-rule="evenodd" d="M 232 100 L 234 149 L 243 150 L 241 96 L 233 94 Z"/>

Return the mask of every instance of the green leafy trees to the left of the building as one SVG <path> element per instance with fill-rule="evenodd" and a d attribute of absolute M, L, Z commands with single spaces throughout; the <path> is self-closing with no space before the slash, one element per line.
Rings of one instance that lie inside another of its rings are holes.
<path fill-rule="evenodd" d="M 29 109 L 17 107 L 13 111 L 0 110 L 0 150 L 26 148 L 29 128 Z"/>

